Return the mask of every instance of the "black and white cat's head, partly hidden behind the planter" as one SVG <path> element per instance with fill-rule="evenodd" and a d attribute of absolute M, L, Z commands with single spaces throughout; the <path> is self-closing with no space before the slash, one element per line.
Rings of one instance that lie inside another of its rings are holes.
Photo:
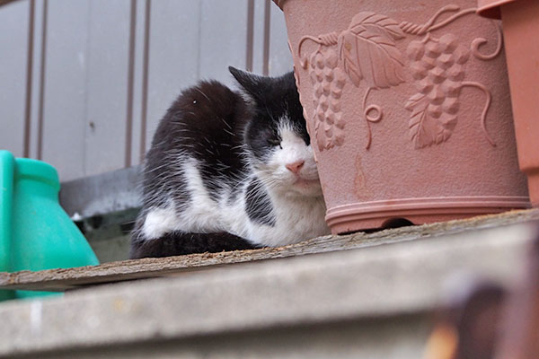
<path fill-rule="evenodd" d="M 229 70 L 252 101 L 243 136 L 259 179 L 291 196 L 322 196 L 294 73 L 266 77 Z"/>

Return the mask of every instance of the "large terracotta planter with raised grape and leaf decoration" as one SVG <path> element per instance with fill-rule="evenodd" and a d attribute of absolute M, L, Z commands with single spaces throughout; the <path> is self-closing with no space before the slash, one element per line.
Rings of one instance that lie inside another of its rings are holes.
<path fill-rule="evenodd" d="M 499 24 L 475 0 L 276 3 L 333 233 L 530 206 Z"/>

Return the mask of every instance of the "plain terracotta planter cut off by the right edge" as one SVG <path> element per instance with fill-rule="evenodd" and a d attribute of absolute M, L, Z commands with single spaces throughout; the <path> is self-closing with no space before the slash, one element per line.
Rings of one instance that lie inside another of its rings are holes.
<path fill-rule="evenodd" d="M 520 170 L 539 206 L 539 1 L 478 0 L 478 13 L 499 18 L 508 61 Z"/>

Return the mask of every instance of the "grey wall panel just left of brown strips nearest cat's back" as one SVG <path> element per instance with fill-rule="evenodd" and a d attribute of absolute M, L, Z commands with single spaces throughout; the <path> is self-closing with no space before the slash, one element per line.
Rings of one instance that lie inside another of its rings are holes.
<path fill-rule="evenodd" d="M 91 0 L 88 39 L 86 175 L 122 168 L 128 115 L 130 0 Z"/>

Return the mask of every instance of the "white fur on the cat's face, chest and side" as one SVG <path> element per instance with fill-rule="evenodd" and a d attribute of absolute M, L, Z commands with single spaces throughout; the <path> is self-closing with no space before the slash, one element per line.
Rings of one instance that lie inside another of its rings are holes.
<path fill-rule="evenodd" d="M 286 124 L 287 121 L 281 121 Z M 244 194 L 252 177 L 245 180 L 242 195 L 234 201 L 232 188 L 221 192 L 218 200 L 210 198 L 200 177 L 197 160 L 185 156 L 181 171 L 187 180 L 190 203 L 172 203 L 166 208 L 147 212 L 142 228 L 146 240 L 160 238 L 166 232 L 230 232 L 253 244 L 278 247 L 329 233 L 324 222 L 325 204 L 318 181 L 318 171 L 310 145 L 295 132 L 281 125 L 278 128 L 281 145 L 265 163 L 252 163 L 255 175 L 266 189 L 273 206 L 273 226 L 252 222 L 245 210 Z M 288 163 L 304 161 L 298 172 L 301 181 L 286 167 Z M 177 210 L 181 208 L 181 210 Z"/>

